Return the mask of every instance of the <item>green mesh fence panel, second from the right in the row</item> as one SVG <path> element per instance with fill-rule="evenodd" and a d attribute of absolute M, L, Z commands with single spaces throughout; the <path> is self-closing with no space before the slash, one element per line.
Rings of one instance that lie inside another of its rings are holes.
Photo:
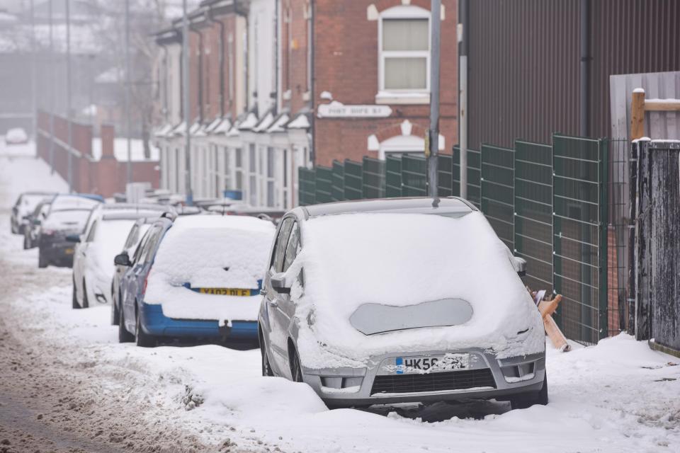
<path fill-rule="evenodd" d="M 514 159 L 514 253 L 527 261 L 526 285 L 552 291 L 553 147 L 517 140 Z"/>

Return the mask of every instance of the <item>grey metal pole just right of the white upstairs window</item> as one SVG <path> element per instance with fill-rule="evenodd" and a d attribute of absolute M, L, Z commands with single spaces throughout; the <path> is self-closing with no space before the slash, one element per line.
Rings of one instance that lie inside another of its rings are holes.
<path fill-rule="evenodd" d="M 428 130 L 427 174 L 428 195 L 438 196 L 439 154 L 439 54 L 441 48 L 441 0 L 431 2 L 431 56 L 430 56 L 430 128 Z"/>

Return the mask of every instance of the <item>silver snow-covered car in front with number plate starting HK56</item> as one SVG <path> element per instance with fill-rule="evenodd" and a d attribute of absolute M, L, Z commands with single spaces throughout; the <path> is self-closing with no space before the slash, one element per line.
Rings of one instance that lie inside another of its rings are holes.
<path fill-rule="evenodd" d="M 328 406 L 548 402 L 545 333 L 521 265 L 455 197 L 297 207 L 263 285 L 263 375 Z"/>

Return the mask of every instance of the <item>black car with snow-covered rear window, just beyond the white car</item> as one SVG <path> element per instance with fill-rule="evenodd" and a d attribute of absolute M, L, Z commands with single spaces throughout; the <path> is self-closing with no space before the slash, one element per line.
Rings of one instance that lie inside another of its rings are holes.
<path fill-rule="evenodd" d="M 100 202 L 80 195 L 57 195 L 45 220 L 34 219 L 40 224 L 38 234 L 38 267 L 57 265 L 70 268 L 73 265 L 74 243 L 67 241 L 71 234 L 84 231 L 91 210 Z"/>

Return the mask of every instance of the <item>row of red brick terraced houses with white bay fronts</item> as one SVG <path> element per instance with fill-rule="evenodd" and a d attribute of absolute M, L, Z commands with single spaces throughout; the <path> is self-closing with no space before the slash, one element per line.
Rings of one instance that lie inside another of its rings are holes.
<path fill-rule="evenodd" d="M 442 6 L 441 137 L 457 140 L 456 2 Z M 194 197 L 297 205 L 299 168 L 422 154 L 429 0 L 206 0 L 189 14 Z M 184 193 L 181 21 L 157 37 L 162 187 Z"/>

